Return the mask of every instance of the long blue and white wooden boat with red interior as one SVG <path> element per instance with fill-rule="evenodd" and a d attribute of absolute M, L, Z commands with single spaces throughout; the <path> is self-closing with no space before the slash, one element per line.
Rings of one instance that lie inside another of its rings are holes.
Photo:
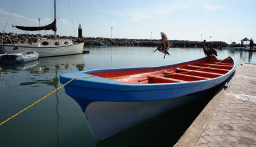
<path fill-rule="evenodd" d="M 97 69 L 60 76 L 65 92 L 86 115 L 93 136 L 103 140 L 191 101 L 184 95 L 216 87 L 234 73 L 232 57 L 198 59 L 161 67 Z"/>

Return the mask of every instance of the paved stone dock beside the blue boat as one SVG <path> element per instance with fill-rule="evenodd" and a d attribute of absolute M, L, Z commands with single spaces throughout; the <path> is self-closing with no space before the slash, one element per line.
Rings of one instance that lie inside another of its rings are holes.
<path fill-rule="evenodd" d="M 256 147 L 256 65 L 238 66 L 227 85 L 174 146 Z"/>

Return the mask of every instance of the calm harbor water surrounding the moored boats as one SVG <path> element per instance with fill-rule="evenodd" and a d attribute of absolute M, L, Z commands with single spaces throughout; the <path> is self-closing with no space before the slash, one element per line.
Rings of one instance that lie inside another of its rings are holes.
<path fill-rule="evenodd" d="M 59 76 L 75 71 L 164 66 L 204 57 L 201 48 L 172 48 L 171 55 L 152 47 L 86 47 L 90 53 L 40 58 L 15 66 L 0 64 L 0 122 L 61 86 Z M 232 56 L 239 64 L 256 64 L 255 52 L 217 50 L 218 59 Z M 84 113 L 61 88 L 0 126 L 0 146 L 170 146 L 216 93 L 164 113 L 105 141 L 93 138 Z M 209 100 L 208 99 L 208 100 Z M 198 105 L 200 103 L 200 105 Z"/>

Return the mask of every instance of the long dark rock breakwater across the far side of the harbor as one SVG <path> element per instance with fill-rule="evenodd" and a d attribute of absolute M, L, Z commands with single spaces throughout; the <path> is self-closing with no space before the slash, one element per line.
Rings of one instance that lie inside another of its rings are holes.
<path fill-rule="evenodd" d="M 28 38 L 53 38 L 51 35 L 41 36 L 40 34 L 16 34 L 13 32 L 0 33 L 1 42 L 24 43 Z M 84 42 L 84 46 L 100 46 L 102 43 L 108 43 L 111 46 L 161 46 L 161 39 L 111 39 L 111 38 L 83 38 L 79 39 L 73 36 L 57 36 L 58 39 L 73 39 L 74 42 Z M 202 47 L 202 41 L 188 40 L 169 40 L 172 47 Z M 207 42 L 209 43 L 209 42 Z M 227 43 L 223 41 L 212 41 L 214 48 L 226 47 Z M 207 45 L 207 44 L 206 44 Z"/>

